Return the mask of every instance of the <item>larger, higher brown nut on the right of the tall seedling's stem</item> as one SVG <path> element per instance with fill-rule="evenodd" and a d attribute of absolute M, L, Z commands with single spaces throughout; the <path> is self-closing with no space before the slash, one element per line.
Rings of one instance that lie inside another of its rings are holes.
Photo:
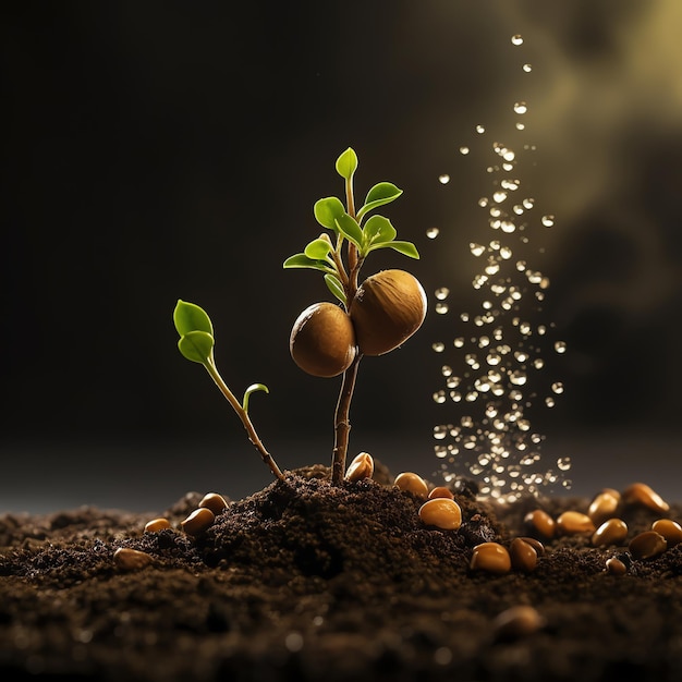
<path fill-rule="evenodd" d="M 368 277 L 351 302 L 350 315 L 364 355 L 382 355 L 404 343 L 426 316 L 426 293 L 404 270 Z"/>

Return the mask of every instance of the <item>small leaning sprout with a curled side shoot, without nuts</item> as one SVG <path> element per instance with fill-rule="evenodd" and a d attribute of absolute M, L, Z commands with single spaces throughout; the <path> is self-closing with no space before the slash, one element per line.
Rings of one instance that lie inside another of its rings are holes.
<path fill-rule="evenodd" d="M 218 368 L 216 367 L 216 361 L 214 360 L 214 326 L 206 310 L 194 303 L 178 301 L 173 312 L 173 322 L 175 324 L 175 329 L 180 334 L 180 340 L 178 341 L 180 352 L 193 363 L 204 365 L 212 380 L 216 382 L 216 386 L 228 399 L 228 402 L 232 405 L 232 409 L 242 421 L 242 424 L 248 434 L 248 440 L 251 440 L 253 446 L 260 453 L 263 461 L 270 467 L 270 471 L 277 478 L 284 480 L 282 472 L 275 463 L 272 455 L 265 449 L 265 446 L 263 444 L 260 438 L 258 438 L 256 429 L 254 428 L 254 425 L 248 416 L 248 399 L 251 394 L 256 391 L 265 391 L 266 393 L 269 393 L 268 387 L 263 383 L 252 383 L 244 392 L 244 398 L 240 403 L 232 391 L 228 388 L 228 385 L 224 382 L 218 372 Z"/>

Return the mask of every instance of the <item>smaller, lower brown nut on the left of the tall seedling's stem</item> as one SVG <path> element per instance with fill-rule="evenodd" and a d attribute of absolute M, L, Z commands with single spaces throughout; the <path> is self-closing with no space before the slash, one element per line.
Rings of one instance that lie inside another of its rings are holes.
<path fill-rule="evenodd" d="M 304 372 L 315 377 L 336 377 L 355 360 L 353 322 L 338 305 L 315 303 L 294 322 L 289 350 Z"/>

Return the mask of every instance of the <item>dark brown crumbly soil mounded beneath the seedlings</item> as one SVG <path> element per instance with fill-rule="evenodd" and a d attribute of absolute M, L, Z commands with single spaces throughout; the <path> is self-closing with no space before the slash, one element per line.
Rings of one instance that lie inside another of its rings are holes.
<path fill-rule="evenodd" d="M 473 547 L 527 535 L 528 510 L 584 512 L 588 500 L 495 508 L 462 489 L 464 524 L 442 532 L 388 480 L 331 487 L 324 473 L 231 502 L 197 539 L 90 508 L 0 516 L 2 679 L 682 679 L 682 545 L 616 576 L 605 561 L 626 547 L 572 535 L 548 541 L 532 573 L 473 572 Z M 199 497 L 167 511 L 173 528 Z M 660 517 L 637 506 L 620 516 L 629 539 Z M 117 568 L 120 547 L 151 564 Z M 516 605 L 541 626 L 500 631 Z"/>

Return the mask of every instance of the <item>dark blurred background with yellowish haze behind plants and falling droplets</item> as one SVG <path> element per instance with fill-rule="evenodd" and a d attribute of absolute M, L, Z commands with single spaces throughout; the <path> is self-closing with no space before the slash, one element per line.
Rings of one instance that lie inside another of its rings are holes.
<path fill-rule="evenodd" d="M 545 315 L 570 350 L 550 362 L 565 394 L 534 417 L 547 456 L 572 456 L 579 492 L 641 478 L 679 497 L 677 0 L 0 12 L 0 511 L 162 509 L 190 489 L 235 497 L 269 483 L 206 373 L 178 353 L 178 297 L 210 313 L 235 393 L 269 386 L 252 416 L 280 465 L 327 462 L 339 383 L 299 370 L 288 341 L 299 313 L 329 295 L 316 273 L 281 264 L 319 232 L 313 203 L 341 194 L 336 157 L 357 150 L 361 196 L 379 180 L 405 191 L 386 214 L 422 252 L 373 255 L 366 273 L 411 269 L 431 306 L 447 285 L 451 307 L 466 308 L 496 135 L 537 145 L 527 182 L 557 216 Z M 436 317 L 363 362 L 351 453 L 436 468 Z"/>

